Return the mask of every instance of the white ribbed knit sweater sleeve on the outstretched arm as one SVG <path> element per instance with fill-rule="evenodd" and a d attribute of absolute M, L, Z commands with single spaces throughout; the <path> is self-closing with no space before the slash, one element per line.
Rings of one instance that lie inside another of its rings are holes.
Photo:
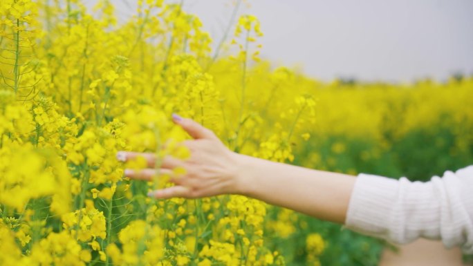
<path fill-rule="evenodd" d="M 392 243 L 441 239 L 445 247 L 473 253 L 473 166 L 429 182 L 360 173 L 345 225 Z"/>

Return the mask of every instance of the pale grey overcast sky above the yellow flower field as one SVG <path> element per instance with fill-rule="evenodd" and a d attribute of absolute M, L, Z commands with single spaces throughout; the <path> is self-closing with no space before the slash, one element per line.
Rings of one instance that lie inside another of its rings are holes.
<path fill-rule="evenodd" d="M 93 2 L 93 0 L 89 0 Z M 120 20 L 136 1 L 113 0 Z M 128 3 L 128 4 L 125 4 Z M 185 0 L 184 8 L 219 39 L 229 0 Z M 473 0 L 250 0 L 241 14 L 259 17 L 261 56 L 304 73 L 409 82 L 473 74 Z"/>

